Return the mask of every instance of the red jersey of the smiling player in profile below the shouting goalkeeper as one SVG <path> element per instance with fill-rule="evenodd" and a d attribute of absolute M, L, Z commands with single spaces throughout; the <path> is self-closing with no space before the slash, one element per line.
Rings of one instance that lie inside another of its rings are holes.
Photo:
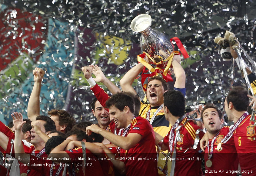
<path fill-rule="evenodd" d="M 142 139 L 129 150 L 120 150 L 121 161 L 126 166 L 126 176 L 134 175 L 158 175 L 156 150 L 155 150 L 155 134 L 152 126 L 146 119 L 136 117 L 131 122 L 129 133 L 137 133 Z"/>

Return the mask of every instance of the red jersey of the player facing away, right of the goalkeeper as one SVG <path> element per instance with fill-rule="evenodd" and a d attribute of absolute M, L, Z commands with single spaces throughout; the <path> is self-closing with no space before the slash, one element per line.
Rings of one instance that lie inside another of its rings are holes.
<path fill-rule="evenodd" d="M 201 169 L 201 161 L 203 155 L 198 153 L 199 148 L 193 149 L 194 141 L 196 138 L 196 131 L 201 129 L 198 125 L 194 124 L 192 120 L 188 120 L 184 118 L 180 125 L 183 125 L 179 129 L 179 137 L 176 142 L 176 160 L 175 160 L 175 176 L 186 175 L 186 176 L 194 176 L 194 175 L 203 175 Z M 165 136 L 163 144 L 168 146 L 169 148 L 169 136 Z M 199 133 L 199 137 L 204 135 L 204 132 Z M 175 131 L 176 136 L 176 131 Z M 174 146 L 174 142 L 172 144 Z M 198 145 L 199 146 L 199 145 Z M 171 158 L 171 156 L 170 156 Z"/>

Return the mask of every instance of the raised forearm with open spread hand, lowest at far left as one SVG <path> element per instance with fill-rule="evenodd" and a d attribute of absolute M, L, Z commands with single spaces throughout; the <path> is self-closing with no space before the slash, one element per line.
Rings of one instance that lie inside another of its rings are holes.
<path fill-rule="evenodd" d="M 12 115 L 13 119 L 13 126 L 15 129 L 15 137 L 14 137 L 14 150 L 15 150 L 15 158 L 18 161 L 21 161 L 24 164 L 28 164 L 30 162 L 30 155 L 26 154 L 23 148 L 22 143 L 22 126 L 26 123 L 26 121 L 23 121 L 22 114 L 19 112 L 15 112 L 14 115 Z M 22 158 L 22 160 L 20 160 Z"/>

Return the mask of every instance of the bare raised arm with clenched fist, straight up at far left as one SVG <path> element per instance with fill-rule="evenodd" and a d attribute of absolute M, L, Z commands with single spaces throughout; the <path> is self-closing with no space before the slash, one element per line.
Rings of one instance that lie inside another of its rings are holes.
<path fill-rule="evenodd" d="M 31 95 L 28 100 L 28 119 L 35 121 L 36 117 L 40 115 L 40 92 L 41 92 L 41 83 L 45 75 L 45 71 L 41 68 L 35 68 L 33 70 L 34 75 L 34 86 L 31 92 Z"/>

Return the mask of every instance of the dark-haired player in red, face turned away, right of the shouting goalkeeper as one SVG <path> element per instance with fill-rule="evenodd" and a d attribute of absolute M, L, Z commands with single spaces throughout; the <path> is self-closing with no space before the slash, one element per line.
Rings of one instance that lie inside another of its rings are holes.
<path fill-rule="evenodd" d="M 159 146 L 161 150 L 168 149 L 171 152 L 169 157 L 172 160 L 171 175 L 203 175 L 197 143 L 204 133 L 198 125 L 184 116 L 184 95 L 176 90 L 165 92 L 164 111 L 165 118 L 171 123 L 172 128 Z M 156 134 L 156 142 L 161 139 L 161 135 Z"/>

